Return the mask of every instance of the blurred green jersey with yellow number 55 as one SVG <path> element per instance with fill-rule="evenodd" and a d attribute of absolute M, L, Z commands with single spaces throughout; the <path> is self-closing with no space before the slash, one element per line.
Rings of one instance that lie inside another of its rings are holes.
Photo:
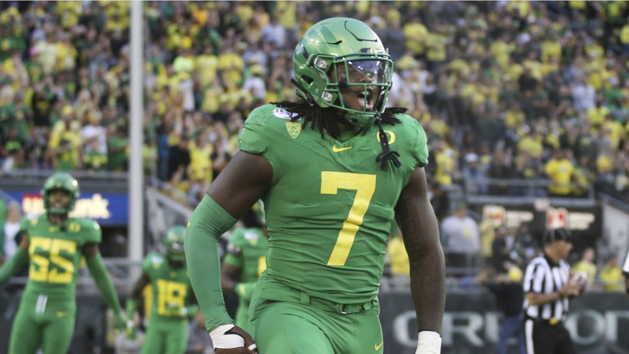
<path fill-rule="evenodd" d="M 20 231 L 28 236 L 29 269 L 26 295 L 49 299 L 75 298 L 81 249 L 87 243 L 101 243 L 101 227 L 91 219 L 70 217 L 53 224 L 48 215 L 21 220 Z"/>

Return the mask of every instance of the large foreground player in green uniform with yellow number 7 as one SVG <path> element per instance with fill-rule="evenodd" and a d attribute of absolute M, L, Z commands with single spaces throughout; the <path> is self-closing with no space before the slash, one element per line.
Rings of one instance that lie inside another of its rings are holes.
<path fill-rule="evenodd" d="M 403 108 L 385 108 L 391 57 L 369 26 L 330 18 L 306 31 L 293 64 L 299 101 L 250 113 L 240 152 L 186 231 L 216 353 L 383 353 L 377 294 L 394 217 L 411 262 L 416 353 L 440 353 L 445 265 L 426 194 L 426 135 Z M 225 311 L 216 244 L 259 198 L 267 270 L 247 333 Z"/>

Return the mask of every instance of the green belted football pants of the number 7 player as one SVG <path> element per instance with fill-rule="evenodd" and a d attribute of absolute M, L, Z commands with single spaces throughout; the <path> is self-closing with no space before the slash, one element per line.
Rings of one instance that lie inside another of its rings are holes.
<path fill-rule="evenodd" d="M 269 284 L 257 283 L 249 309 L 250 333 L 260 354 L 384 353 L 377 300 L 363 304 L 365 309 L 337 307 L 280 290 L 276 283 L 260 285 Z"/>

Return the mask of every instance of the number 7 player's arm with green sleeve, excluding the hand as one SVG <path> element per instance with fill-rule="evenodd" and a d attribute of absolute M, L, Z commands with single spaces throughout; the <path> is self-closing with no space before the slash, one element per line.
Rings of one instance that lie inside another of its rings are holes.
<path fill-rule="evenodd" d="M 238 152 L 192 214 L 184 246 L 190 281 L 208 331 L 233 322 L 221 290 L 218 238 L 264 195 L 272 175 L 264 157 Z"/>

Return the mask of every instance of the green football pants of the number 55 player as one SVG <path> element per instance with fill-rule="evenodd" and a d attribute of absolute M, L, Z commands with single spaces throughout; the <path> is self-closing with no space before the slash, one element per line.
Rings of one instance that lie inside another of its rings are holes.
<path fill-rule="evenodd" d="M 13 320 L 9 354 L 64 354 L 74 333 L 76 302 L 26 294 Z"/>

